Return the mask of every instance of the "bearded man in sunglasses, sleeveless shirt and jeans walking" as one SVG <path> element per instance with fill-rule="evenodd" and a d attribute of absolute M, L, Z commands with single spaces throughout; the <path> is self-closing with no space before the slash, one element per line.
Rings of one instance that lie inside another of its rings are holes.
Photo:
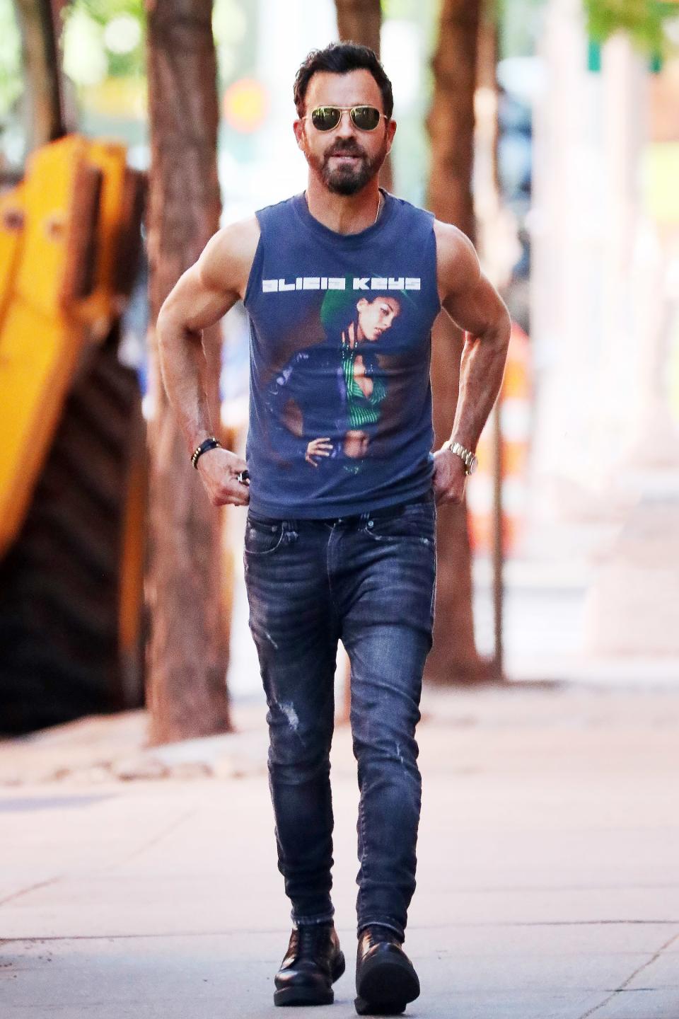
<path fill-rule="evenodd" d="M 375 53 L 342 43 L 309 54 L 294 100 L 295 138 L 308 163 L 305 193 L 215 234 L 161 310 L 159 350 L 211 500 L 249 503 L 250 629 L 269 706 L 279 869 L 294 924 L 274 1001 L 328 1004 L 344 971 L 331 899 L 329 764 L 341 639 L 351 663 L 360 790 L 355 1007 L 397 1014 L 419 994 L 402 944 L 415 887 L 415 727 L 432 643 L 436 506 L 463 497 L 500 388 L 509 319 L 467 238 L 379 189 L 396 123 L 391 84 Z M 378 292 L 384 304 L 375 304 L 383 321 L 376 318 L 381 324 L 370 338 L 355 331 L 351 377 L 337 371 L 341 330 L 337 359 L 328 356 L 332 334 L 321 310 L 331 290 L 349 290 L 353 308 L 361 300 L 360 308 L 370 307 Z M 199 382 L 202 330 L 238 299 L 250 320 L 244 461 L 211 435 Z M 442 307 L 467 336 L 452 436 L 432 453 L 431 328 Z M 323 356 L 315 358 L 317 347 Z M 295 361 L 294 392 L 314 409 L 305 414 L 295 400 L 267 399 L 301 351 L 308 357 Z M 370 419 L 359 459 L 355 422 L 337 414 L 331 390 L 338 384 L 355 389 L 352 398 L 357 407 L 363 400 Z M 281 455 L 281 429 L 302 450 L 319 437 L 325 444 L 313 447 L 313 458 Z"/>

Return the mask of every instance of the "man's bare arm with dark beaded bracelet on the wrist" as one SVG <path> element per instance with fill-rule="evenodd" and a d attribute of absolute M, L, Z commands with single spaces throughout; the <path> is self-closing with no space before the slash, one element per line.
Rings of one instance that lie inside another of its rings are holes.
<path fill-rule="evenodd" d="M 243 297 L 259 239 L 256 219 L 219 230 L 197 262 L 179 278 L 160 310 L 158 352 L 163 382 L 190 454 L 210 435 L 206 394 L 201 385 L 203 330 L 214 325 Z M 247 502 L 246 486 L 235 480 L 245 462 L 226 449 L 199 461 L 199 473 L 215 505 Z"/>

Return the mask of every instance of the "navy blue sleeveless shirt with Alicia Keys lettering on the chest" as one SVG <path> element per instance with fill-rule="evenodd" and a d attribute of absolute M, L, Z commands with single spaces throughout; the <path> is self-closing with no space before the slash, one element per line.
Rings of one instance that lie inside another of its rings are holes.
<path fill-rule="evenodd" d="M 244 299 L 254 513 L 343 517 L 432 487 L 434 217 L 382 195 L 360 233 L 328 229 L 304 195 L 257 213 Z"/>

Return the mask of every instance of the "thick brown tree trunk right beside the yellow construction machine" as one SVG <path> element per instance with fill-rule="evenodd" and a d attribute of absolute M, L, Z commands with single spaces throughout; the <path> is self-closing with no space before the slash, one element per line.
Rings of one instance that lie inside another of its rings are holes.
<path fill-rule="evenodd" d="M 212 0 L 147 0 L 151 175 L 149 194 L 150 422 L 148 695 L 152 743 L 222 733 L 227 615 L 220 515 L 191 468 L 165 393 L 154 324 L 181 273 L 219 227 L 217 64 Z M 219 330 L 206 333 L 203 384 L 219 432 Z"/>

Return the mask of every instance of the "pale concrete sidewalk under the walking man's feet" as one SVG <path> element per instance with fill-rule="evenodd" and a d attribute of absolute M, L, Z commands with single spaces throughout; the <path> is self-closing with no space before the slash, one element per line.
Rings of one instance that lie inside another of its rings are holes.
<path fill-rule="evenodd" d="M 679 695 L 429 690 L 422 710 L 407 1015 L 679 1017 Z M 289 921 L 264 710 L 235 717 L 160 754 L 138 715 L 0 744 L 2 1019 L 277 1014 Z M 314 1019 L 355 1014 L 345 728 L 333 788 L 347 972 Z"/>

